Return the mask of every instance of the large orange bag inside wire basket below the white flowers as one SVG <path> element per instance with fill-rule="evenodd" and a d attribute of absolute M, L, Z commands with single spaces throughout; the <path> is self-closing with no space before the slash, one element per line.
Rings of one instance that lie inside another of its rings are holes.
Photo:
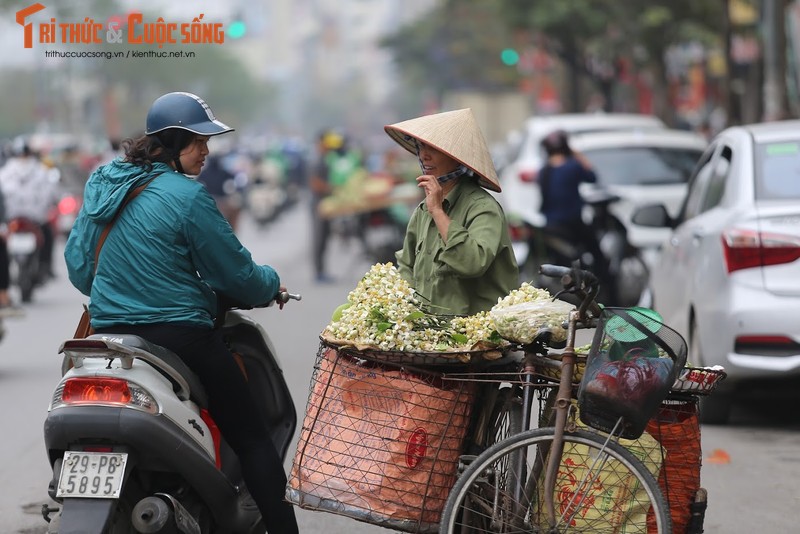
<path fill-rule="evenodd" d="M 475 384 L 321 344 L 286 498 L 407 532 L 436 532 Z"/>

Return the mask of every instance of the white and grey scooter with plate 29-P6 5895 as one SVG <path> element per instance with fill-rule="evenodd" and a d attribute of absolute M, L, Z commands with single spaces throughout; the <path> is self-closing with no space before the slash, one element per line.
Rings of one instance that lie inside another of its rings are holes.
<path fill-rule="evenodd" d="M 265 306 L 300 298 L 281 292 Z M 217 327 L 285 459 L 297 413 L 275 348 L 246 308 L 219 300 Z M 48 534 L 265 532 L 203 386 L 176 354 L 114 334 L 67 340 L 59 352 L 44 424 L 58 504 L 42 508 Z"/>

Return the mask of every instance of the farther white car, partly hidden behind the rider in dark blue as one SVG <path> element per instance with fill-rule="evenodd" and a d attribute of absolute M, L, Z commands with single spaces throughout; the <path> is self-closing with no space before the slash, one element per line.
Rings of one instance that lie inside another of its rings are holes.
<path fill-rule="evenodd" d="M 653 115 L 635 113 L 565 113 L 531 117 L 522 128 L 522 141 L 516 154 L 508 155 L 508 163 L 500 171 L 502 193 L 497 197 L 511 220 L 522 220 L 541 226 L 539 213 L 539 187 L 536 181 L 545 155 L 542 139 L 555 130 L 568 135 L 608 130 L 652 130 L 666 128 L 661 119 Z"/>

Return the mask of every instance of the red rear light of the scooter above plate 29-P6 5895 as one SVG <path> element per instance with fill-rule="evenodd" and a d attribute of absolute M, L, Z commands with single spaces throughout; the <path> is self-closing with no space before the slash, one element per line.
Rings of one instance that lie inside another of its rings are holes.
<path fill-rule="evenodd" d="M 120 378 L 80 377 L 67 379 L 53 394 L 52 407 L 124 406 L 148 413 L 158 412 L 158 403 L 143 388 Z"/>

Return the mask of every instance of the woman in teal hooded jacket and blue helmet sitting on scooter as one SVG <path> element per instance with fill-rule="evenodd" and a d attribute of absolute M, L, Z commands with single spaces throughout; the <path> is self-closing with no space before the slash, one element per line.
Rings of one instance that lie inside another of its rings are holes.
<path fill-rule="evenodd" d="M 232 130 L 196 95 L 156 99 L 145 135 L 126 140 L 125 155 L 89 177 L 64 256 L 70 281 L 90 297 L 96 332 L 141 336 L 175 352 L 197 374 L 268 532 L 295 533 L 294 509 L 283 500 L 282 460 L 242 371 L 214 329 L 217 294 L 256 306 L 283 289 L 275 270 L 253 261 L 194 179 L 209 154 L 209 138 Z"/>

